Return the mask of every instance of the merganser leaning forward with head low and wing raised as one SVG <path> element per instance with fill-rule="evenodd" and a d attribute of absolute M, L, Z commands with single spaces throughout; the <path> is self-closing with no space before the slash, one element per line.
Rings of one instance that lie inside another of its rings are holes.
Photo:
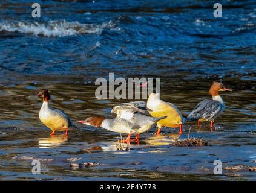
<path fill-rule="evenodd" d="M 143 115 L 146 104 L 143 101 L 119 104 L 113 107 L 111 113 L 116 114 L 116 118 L 105 119 L 105 116 L 92 116 L 84 121 L 78 121 L 85 125 L 102 127 L 116 133 L 128 134 L 127 138 L 121 142 L 130 144 L 130 141 L 139 141 L 140 133 L 148 131 L 157 121 L 166 116 L 154 118 Z M 131 135 L 137 133 L 135 139 L 130 139 Z"/>

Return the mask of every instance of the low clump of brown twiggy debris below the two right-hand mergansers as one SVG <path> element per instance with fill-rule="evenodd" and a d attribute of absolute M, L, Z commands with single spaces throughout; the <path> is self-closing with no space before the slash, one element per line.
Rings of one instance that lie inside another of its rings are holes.
<path fill-rule="evenodd" d="M 183 140 L 175 139 L 171 144 L 174 146 L 209 146 L 209 141 L 205 141 L 203 138 L 187 138 Z"/>

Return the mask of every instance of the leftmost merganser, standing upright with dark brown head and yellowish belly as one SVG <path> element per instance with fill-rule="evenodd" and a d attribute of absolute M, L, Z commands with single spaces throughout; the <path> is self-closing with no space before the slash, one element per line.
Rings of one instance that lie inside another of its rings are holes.
<path fill-rule="evenodd" d="M 45 126 L 52 130 L 50 135 L 54 135 L 56 131 L 65 131 L 65 135 L 68 136 L 68 128 L 76 126 L 64 112 L 49 106 L 51 96 L 48 90 L 43 89 L 36 96 L 43 98 L 43 104 L 39 111 L 39 119 Z"/>

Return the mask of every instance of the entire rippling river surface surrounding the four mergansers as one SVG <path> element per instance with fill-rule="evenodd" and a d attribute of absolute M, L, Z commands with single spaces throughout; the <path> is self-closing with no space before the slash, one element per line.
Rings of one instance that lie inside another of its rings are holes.
<path fill-rule="evenodd" d="M 31 17 L 31 1 L 0 1 L 0 179 L 1 180 L 255 180 L 256 1 L 37 1 L 41 18 Z M 177 130 L 156 128 L 140 145 L 117 151 L 118 133 L 83 127 L 68 140 L 49 138 L 34 97 L 47 87 L 51 105 L 74 121 L 99 114 L 126 100 L 96 100 L 97 77 L 161 77 L 163 100 L 188 115 L 209 98 L 212 81 L 226 109 L 207 125 L 187 122 L 181 139 L 203 137 L 210 147 L 171 147 Z M 31 159 L 42 174 L 31 174 Z M 70 158 L 96 162 L 70 168 Z M 52 160 L 48 160 L 52 159 Z M 213 174 L 213 162 L 242 166 Z"/>

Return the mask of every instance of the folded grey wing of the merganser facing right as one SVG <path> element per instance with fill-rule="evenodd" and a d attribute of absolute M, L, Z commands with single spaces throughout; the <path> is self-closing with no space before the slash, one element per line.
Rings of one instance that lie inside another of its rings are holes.
<path fill-rule="evenodd" d="M 205 119 L 210 121 L 222 112 L 222 104 L 214 100 L 203 100 L 188 115 L 188 120 Z"/>

